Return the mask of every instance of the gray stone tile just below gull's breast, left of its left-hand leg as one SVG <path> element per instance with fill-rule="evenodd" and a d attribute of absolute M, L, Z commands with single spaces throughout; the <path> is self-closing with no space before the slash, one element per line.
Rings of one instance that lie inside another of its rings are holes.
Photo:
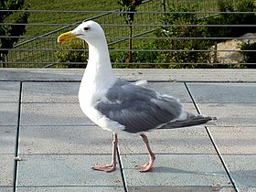
<path fill-rule="evenodd" d="M 21 126 L 19 154 L 111 154 L 112 133 L 98 126 Z"/>

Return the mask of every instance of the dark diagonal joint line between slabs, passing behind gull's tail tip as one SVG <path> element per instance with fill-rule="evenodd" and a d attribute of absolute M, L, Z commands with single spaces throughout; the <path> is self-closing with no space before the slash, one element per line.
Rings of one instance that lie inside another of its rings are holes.
<path fill-rule="evenodd" d="M 199 110 L 199 108 L 198 108 L 198 106 L 197 106 L 197 103 L 196 103 L 196 101 L 195 101 L 194 98 L 193 98 L 192 92 L 189 90 L 189 88 L 188 88 L 188 86 L 187 86 L 187 82 L 184 82 L 184 85 L 185 85 L 185 87 L 186 87 L 186 89 L 187 89 L 187 92 L 188 92 L 188 94 L 189 94 L 189 97 L 191 98 L 191 100 L 192 100 L 194 106 L 196 107 L 197 113 L 198 113 L 198 114 L 201 114 L 201 112 L 200 112 L 200 110 Z M 220 151 L 219 151 L 219 148 L 218 148 L 217 144 L 215 143 L 215 141 L 214 141 L 214 139 L 213 139 L 212 134 L 210 133 L 210 131 L 209 131 L 209 129 L 208 129 L 207 126 L 205 126 L 205 129 L 206 129 L 206 131 L 207 131 L 207 133 L 208 133 L 208 137 L 209 137 L 211 143 L 212 143 L 213 146 L 214 146 L 214 149 L 215 149 L 216 152 L 217 152 L 217 155 L 219 156 L 219 159 L 220 159 L 221 164 L 223 165 L 223 167 L 224 167 L 224 169 L 225 169 L 227 175 L 229 176 L 229 179 L 230 179 L 230 181 L 231 181 L 231 183 L 232 183 L 232 186 L 234 187 L 234 189 L 236 190 L 236 192 L 239 192 L 240 190 L 239 190 L 239 188 L 237 187 L 236 182 L 234 181 L 234 179 L 233 179 L 232 176 L 230 175 L 229 168 L 228 168 L 228 166 L 226 165 L 226 163 L 225 163 L 225 161 L 224 161 L 224 158 L 222 157 L 222 155 L 221 155 L 221 153 L 220 153 Z"/>

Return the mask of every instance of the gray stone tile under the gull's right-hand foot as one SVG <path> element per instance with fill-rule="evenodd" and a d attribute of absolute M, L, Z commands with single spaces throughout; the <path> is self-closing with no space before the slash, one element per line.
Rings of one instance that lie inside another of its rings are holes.
<path fill-rule="evenodd" d="M 218 155 L 158 155 L 152 172 L 139 173 L 147 155 L 122 155 L 127 187 L 232 187 Z"/>

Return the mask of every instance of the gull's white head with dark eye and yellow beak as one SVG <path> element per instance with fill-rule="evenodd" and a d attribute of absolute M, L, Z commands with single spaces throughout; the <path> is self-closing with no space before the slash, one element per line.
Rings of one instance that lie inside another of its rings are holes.
<path fill-rule="evenodd" d="M 72 38 L 80 38 L 88 43 L 95 39 L 105 38 L 104 31 L 101 26 L 94 21 L 86 21 L 80 24 L 72 31 L 61 34 L 58 37 L 58 42 L 64 42 Z"/>

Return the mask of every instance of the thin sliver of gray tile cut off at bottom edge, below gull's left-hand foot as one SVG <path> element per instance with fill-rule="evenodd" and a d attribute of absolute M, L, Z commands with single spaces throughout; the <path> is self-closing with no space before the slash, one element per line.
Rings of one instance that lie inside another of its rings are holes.
<path fill-rule="evenodd" d="M 17 187 L 16 192 L 122 192 L 123 187 Z"/>

